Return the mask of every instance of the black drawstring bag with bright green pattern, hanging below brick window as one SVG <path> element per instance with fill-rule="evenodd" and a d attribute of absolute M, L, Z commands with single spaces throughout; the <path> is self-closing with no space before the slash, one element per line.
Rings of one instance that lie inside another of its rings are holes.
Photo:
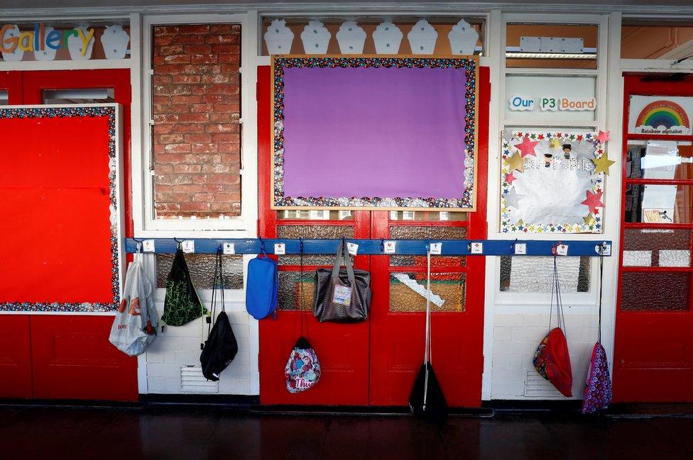
<path fill-rule="evenodd" d="M 171 271 L 166 279 L 166 298 L 161 320 L 169 326 L 182 326 L 207 314 L 195 286 L 192 286 L 183 251 L 178 247 L 173 258 Z"/>

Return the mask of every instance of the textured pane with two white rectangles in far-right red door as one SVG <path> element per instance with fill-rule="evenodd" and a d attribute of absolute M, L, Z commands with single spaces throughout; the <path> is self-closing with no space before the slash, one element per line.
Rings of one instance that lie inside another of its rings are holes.
<path fill-rule="evenodd" d="M 623 265 L 690 267 L 690 247 L 691 230 L 629 228 L 623 235 Z M 649 259 L 645 252 L 650 252 Z"/>

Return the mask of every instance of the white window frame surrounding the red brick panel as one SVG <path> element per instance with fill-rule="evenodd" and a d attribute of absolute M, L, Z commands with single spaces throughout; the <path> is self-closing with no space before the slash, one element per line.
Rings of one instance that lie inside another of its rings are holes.
<path fill-rule="evenodd" d="M 141 27 L 141 75 L 133 79 L 133 101 L 141 101 L 137 123 L 133 116 L 133 223 L 136 237 L 214 237 L 242 238 L 257 235 L 258 179 L 257 179 L 257 103 L 256 66 L 257 20 L 256 14 L 170 14 L 147 15 Z M 151 50 L 152 26 L 173 24 L 239 24 L 241 26 L 241 215 L 230 219 L 155 219 L 153 195 L 153 169 L 151 155 Z M 136 99 L 135 84 L 141 83 Z M 133 108 L 133 112 L 134 112 Z M 141 130 L 136 133 L 135 125 Z M 134 143 L 139 140 L 139 148 Z M 137 152 L 140 157 L 136 157 Z M 201 234 L 207 233 L 207 235 Z"/>

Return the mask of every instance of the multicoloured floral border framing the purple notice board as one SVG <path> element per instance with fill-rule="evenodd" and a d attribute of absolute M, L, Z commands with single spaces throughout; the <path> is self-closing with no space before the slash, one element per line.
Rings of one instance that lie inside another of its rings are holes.
<path fill-rule="evenodd" d="M 400 198 L 285 196 L 284 194 L 284 68 L 290 67 L 427 67 L 465 70 L 464 191 L 462 198 Z M 323 208 L 472 208 L 476 155 L 476 71 L 472 58 L 434 57 L 278 57 L 274 60 L 273 204 L 278 207 Z"/>

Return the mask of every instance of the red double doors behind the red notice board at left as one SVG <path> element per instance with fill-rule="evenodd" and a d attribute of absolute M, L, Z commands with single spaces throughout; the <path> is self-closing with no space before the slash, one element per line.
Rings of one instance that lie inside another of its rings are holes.
<path fill-rule="evenodd" d="M 129 171 L 128 69 L 0 72 L 0 91 L 8 91 L 13 105 L 120 103 Z M 132 235 L 130 190 L 126 183 L 126 235 Z M 110 315 L 0 315 L 6 340 L 0 340 L 0 398 L 137 400 L 137 361 L 108 342 L 112 321 Z"/>

